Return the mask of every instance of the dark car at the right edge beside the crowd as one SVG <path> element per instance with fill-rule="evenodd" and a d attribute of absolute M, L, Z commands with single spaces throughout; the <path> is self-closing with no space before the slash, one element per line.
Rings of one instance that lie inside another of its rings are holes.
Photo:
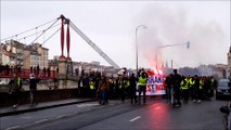
<path fill-rule="evenodd" d="M 231 81 L 229 79 L 220 79 L 216 89 L 216 99 L 231 98 Z"/>

